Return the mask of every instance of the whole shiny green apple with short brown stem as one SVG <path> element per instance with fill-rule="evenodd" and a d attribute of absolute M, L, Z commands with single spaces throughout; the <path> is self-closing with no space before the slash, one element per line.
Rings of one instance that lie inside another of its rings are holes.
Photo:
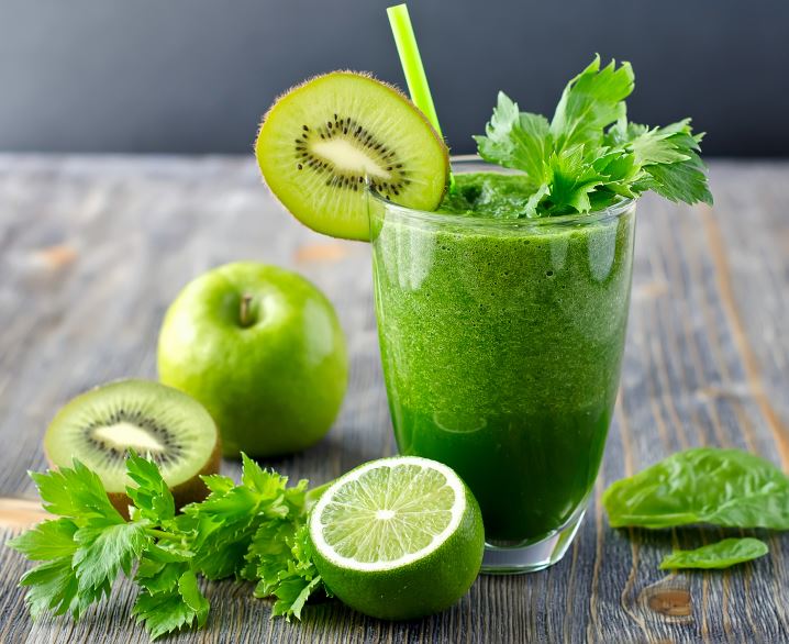
<path fill-rule="evenodd" d="M 220 266 L 184 288 L 162 325 L 158 369 L 162 382 L 211 412 L 229 457 L 320 441 L 348 380 L 331 302 L 303 277 L 255 262 Z"/>

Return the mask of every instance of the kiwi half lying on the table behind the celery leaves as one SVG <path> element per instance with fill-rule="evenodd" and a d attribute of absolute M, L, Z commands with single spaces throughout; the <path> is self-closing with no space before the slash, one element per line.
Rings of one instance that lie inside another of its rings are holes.
<path fill-rule="evenodd" d="M 96 471 L 112 504 L 127 517 L 129 449 L 154 460 L 173 490 L 176 507 L 208 495 L 200 475 L 219 471 L 221 451 L 213 419 L 186 393 L 147 380 L 120 380 L 68 402 L 44 436 L 53 467 L 75 458 Z"/>

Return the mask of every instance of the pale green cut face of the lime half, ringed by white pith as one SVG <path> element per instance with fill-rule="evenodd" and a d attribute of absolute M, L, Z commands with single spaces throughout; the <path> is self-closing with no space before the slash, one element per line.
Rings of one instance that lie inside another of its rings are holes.
<path fill-rule="evenodd" d="M 358 571 L 392 570 L 441 548 L 458 530 L 466 488 L 447 466 L 400 456 L 337 479 L 315 504 L 310 536 L 323 557 Z"/>

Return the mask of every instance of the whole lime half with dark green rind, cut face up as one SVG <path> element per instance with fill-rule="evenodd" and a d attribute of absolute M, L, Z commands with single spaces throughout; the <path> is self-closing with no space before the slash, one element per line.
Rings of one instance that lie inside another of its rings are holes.
<path fill-rule="evenodd" d="M 405 620 L 454 604 L 479 574 L 482 517 L 446 465 L 398 456 L 338 478 L 310 515 L 326 586 L 365 614 Z"/>

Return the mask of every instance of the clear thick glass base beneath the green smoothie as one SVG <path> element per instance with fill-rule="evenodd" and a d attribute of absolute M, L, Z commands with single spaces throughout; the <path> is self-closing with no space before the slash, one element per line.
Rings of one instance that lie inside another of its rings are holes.
<path fill-rule="evenodd" d="M 486 542 L 482 573 L 486 575 L 520 575 L 553 566 L 565 556 L 586 514 L 584 503 L 558 530 L 538 540 L 522 542 Z"/>

